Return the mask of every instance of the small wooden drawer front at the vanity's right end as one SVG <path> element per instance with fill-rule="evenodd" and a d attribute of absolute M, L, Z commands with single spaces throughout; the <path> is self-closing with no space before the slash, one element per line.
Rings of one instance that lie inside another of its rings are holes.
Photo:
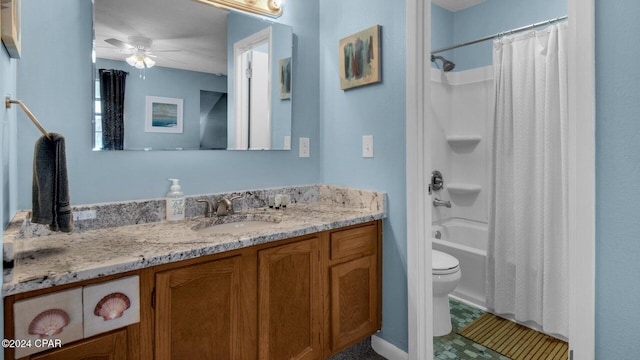
<path fill-rule="evenodd" d="M 376 251 L 377 238 L 375 224 L 333 232 L 331 233 L 331 260 L 373 254 Z"/>

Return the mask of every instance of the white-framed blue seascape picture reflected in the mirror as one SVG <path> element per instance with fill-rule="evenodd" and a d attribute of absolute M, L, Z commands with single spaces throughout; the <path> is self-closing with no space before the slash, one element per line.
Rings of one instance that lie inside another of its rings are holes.
<path fill-rule="evenodd" d="M 182 102 L 182 99 L 147 96 L 144 131 L 181 134 Z"/>

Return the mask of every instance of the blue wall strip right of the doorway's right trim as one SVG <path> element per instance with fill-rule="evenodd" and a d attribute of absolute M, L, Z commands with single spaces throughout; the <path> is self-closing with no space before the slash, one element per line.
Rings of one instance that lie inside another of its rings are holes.
<path fill-rule="evenodd" d="M 596 0 L 596 358 L 640 353 L 640 3 Z"/>

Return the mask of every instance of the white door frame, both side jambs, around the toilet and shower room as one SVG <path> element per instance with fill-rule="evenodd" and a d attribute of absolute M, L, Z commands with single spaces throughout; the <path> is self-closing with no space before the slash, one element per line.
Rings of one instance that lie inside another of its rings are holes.
<path fill-rule="evenodd" d="M 409 359 L 433 356 L 431 203 L 431 1 L 407 0 L 406 185 Z M 595 358 L 595 5 L 568 0 L 569 339 L 573 358 Z M 585 61 L 588 59 L 588 61 Z"/>

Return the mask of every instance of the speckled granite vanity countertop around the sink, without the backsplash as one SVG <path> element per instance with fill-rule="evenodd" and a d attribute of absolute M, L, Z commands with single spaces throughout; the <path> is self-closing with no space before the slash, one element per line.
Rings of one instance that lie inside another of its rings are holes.
<path fill-rule="evenodd" d="M 326 202 L 290 204 L 280 210 L 256 208 L 233 216 L 240 214 L 247 220 L 277 223 L 259 231 L 207 234 L 193 228 L 205 227 L 203 222 L 215 220 L 196 217 L 20 239 L 15 241 L 13 280 L 3 285 L 2 294 L 9 296 L 197 258 L 385 216 L 380 208 L 341 207 Z M 222 218 L 220 221 L 232 219 Z"/>

